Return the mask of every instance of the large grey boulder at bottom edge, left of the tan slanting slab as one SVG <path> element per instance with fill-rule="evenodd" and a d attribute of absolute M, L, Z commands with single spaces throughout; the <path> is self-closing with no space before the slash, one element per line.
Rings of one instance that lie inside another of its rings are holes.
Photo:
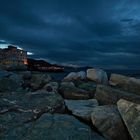
<path fill-rule="evenodd" d="M 97 106 L 93 108 L 91 119 L 93 125 L 107 140 L 129 139 L 129 134 L 116 106 Z"/>

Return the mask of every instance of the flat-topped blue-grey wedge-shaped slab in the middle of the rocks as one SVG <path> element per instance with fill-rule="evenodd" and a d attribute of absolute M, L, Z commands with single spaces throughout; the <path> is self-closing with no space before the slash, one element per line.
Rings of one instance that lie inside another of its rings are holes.
<path fill-rule="evenodd" d="M 91 112 L 94 107 L 98 106 L 96 99 L 90 100 L 65 100 L 66 107 L 73 115 L 86 121 L 91 120 Z"/>

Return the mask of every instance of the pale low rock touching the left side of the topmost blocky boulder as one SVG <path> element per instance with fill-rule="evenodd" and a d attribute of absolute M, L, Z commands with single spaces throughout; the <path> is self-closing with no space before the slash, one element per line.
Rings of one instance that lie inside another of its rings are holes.
<path fill-rule="evenodd" d="M 74 80 L 84 80 L 86 79 L 86 73 L 84 71 L 80 72 L 71 72 L 66 77 L 64 77 L 63 81 L 74 81 Z"/>

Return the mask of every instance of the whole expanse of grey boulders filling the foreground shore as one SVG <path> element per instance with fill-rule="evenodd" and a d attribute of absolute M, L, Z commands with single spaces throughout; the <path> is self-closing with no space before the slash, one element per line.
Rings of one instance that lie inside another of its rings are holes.
<path fill-rule="evenodd" d="M 0 139 L 140 140 L 140 79 L 0 70 Z"/>

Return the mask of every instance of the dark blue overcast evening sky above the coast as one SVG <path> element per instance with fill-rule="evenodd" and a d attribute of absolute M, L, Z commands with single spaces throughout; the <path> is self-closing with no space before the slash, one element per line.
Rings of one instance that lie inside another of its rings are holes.
<path fill-rule="evenodd" d="M 140 0 L 0 2 L 0 44 L 51 63 L 140 69 Z"/>

